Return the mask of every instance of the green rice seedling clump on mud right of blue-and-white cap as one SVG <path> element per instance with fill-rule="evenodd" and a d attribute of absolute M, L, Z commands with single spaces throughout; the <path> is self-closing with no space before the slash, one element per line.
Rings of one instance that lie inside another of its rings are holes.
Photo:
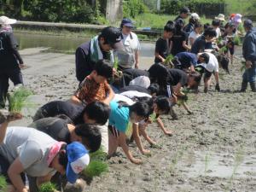
<path fill-rule="evenodd" d="M 90 164 L 84 169 L 85 177 L 96 177 L 102 175 L 103 172 L 108 172 L 108 164 L 102 160 L 92 160 Z"/>

